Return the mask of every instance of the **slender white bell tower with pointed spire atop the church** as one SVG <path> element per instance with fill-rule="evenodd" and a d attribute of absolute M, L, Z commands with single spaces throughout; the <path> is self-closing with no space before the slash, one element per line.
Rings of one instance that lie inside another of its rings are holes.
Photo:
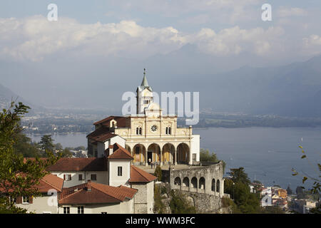
<path fill-rule="evenodd" d="M 143 81 L 141 82 L 141 86 L 138 86 L 136 93 L 137 93 L 136 113 L 145 114 L 145 108 L 147 108 L 149 104 L 153 103 L 153 90 L 151 86 L 148 86 L 145 68 L 144 68 Z"/>

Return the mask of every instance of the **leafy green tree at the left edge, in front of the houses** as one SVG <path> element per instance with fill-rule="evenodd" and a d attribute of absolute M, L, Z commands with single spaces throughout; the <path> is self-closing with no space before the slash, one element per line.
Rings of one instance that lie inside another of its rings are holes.
<path fill-rule="evenodd" d="M 46 167 L 54 164 L 58 157 L 48 152 L 49 158 L 40 160 L 38 157 L 25 160 L 23 155 L 15 152 L 14 145 L 21 134 L 20 120 L 29 107 L 23 103 L 15 105 L 11 102 L 8 110 L 0 113 L 0 212 L 24 213 L 25 209 L 14 206 L 16 197 L 39 195 L 37 185 L 47 174 Z"/>

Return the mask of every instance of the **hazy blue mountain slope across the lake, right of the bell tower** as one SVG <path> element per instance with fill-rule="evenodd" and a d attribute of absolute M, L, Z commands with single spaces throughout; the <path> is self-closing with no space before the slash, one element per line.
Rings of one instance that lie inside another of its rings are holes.
<path fill-rule="evenodd" d="M 167 90 L 200 91 L 200 108 L 218 112 L 321 116 L 321 56 L 287 66 L 175 77 Z M 176 87 L 176 89 L 175 89 Z"/>

